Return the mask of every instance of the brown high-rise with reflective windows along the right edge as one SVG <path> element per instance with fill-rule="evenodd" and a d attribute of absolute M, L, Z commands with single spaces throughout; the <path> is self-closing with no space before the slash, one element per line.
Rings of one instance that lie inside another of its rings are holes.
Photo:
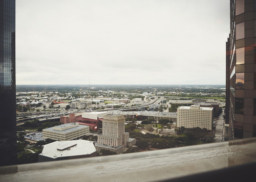
<path fill-rule="evenodd" d="M 230 0 L 230 34 L 226 42 L 229 140 L 256 137 L 255 15 L 255 0 Z"/>

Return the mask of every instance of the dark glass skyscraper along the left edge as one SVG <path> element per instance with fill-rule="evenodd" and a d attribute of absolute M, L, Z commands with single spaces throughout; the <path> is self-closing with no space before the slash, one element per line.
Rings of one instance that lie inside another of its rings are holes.
<path fill-rule="evenodd" d="M 0 0 L 0 166 L 17 163 L 15 0 Z"/>

